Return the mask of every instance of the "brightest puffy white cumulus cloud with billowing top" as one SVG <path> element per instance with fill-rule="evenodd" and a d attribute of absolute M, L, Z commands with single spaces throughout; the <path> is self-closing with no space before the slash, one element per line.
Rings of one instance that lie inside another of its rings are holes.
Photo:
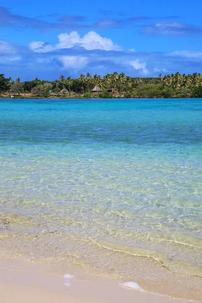
<path fill-rule="evenodd" d="M 33 41 L 29 43 L 29 48 L 35 53 L 47 53 L 54 49 L 71 48 L 75 45 L 79 45 L 92 51 L 93 49 L 102 49 L 103 51 L 121 51 L 122 48 L 113 43 L 109 38 L 102 37 L 94 31 L 90 31 L 83 36 L 72 31 L 70 34 L 61 33 L 58 35 L 59 43 L 55 46 L 44 43 L 43 41 Z"/>

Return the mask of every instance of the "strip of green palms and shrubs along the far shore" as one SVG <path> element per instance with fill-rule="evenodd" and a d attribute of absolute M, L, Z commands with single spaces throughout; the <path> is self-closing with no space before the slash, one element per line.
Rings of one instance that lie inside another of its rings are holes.
<path fill-rule="evenodd" d="M 92 89 L 95 89 L 92 91 Z M 116 90 L 115 90 L 116 89 Z M 190 98 L 202 97 L 202 76 L 162 74 L 159 77 L 133 78 L 124 73 L 91 76 L 81 74 L 78 79 L 61 75 L 54 81 L 35 78 L 22 82 L 0 74 L 1 97 L 45 97 L 45 98 Z"/>

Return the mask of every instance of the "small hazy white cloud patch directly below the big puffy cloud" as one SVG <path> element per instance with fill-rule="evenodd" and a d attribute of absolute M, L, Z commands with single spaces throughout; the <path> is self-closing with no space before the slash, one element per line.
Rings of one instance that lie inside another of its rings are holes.
<path fill-rule="evenodd" d="M 84 56 L 60 56 L 58 59 L 68 68 L 80 69 L 88 64 L 88 59 Z"/>

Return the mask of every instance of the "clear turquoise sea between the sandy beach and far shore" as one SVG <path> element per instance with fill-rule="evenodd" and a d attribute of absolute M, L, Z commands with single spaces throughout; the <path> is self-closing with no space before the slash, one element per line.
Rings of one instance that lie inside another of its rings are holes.
<path fill-rule="evenodd" d="M 0 116 L 7 254 L 202 266 L 201 99 L 2 99 Z"/>

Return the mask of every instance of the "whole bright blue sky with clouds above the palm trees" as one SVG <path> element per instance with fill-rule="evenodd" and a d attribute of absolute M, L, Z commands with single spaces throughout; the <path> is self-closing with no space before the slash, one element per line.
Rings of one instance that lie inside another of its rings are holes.
<path fill-rule="evenodd" d="M 200 0 L 0 1 L 0 74 L 202 73 Z"/>

